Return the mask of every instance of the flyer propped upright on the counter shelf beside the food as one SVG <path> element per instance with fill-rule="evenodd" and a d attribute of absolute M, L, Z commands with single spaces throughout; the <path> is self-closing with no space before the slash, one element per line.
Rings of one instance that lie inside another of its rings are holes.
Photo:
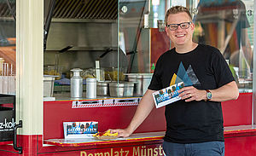
<path fill-rule="evenodd" d="M 92 138 L 98 132 L 98 122 L 63 122 L 65 138 Z"/>

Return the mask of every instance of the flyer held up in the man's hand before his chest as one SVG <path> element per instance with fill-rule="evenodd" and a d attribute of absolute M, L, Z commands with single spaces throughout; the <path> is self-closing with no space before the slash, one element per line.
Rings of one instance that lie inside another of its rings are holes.
<path fill-rule="evenodd" d="M 152 95 L 156 108 L 164 107 L 172 102 L 179 101 L 181 98 L 178 96 L 178 90 L 184 87 L 183 82 L 173 84 L 162 90 L 155 91 Z"/>

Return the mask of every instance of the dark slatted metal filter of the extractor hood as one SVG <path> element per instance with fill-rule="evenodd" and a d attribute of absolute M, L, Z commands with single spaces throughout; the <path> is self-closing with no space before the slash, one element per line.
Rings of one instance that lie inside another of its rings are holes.
<path fill-rule="evenodd" d="M 55 0 L 52 18 L 116 20 L 117 13 L 117 0 Z"/>

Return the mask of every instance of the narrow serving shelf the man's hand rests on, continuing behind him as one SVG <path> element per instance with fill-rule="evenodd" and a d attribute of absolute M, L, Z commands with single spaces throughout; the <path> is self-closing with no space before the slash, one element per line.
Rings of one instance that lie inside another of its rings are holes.
<path fill-rule="evenodd" d="M 239 125 L 224 127 L 224 137 L 237 137 L 237 136 L 255 136 L 256 125 Z M 129 137 L 119 137 L 114 140 L 97 140 L 96 138 L 83 138 L 83 139 L 49 139 L 44 143 L 50 145 L 56 145 L 61 147 L 80 147 L 80 146 L 93 146 L 104 145 L 113 143 L 125 143 L 125 142 L 147 142 L 147 141 L 160 141 L 165 136 L 165 131 L 160 132 L 148 132 L 148 133 L 136 133 Z"/>

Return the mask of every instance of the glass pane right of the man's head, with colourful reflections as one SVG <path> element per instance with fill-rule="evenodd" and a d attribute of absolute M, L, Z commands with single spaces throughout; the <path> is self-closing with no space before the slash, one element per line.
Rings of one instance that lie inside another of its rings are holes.
<path fill-rule="evenodd" d="M 194 13 L 194 40 L 218 48 L 240 92 L 253 88 L 253 0 L 201 0 Z"/>

